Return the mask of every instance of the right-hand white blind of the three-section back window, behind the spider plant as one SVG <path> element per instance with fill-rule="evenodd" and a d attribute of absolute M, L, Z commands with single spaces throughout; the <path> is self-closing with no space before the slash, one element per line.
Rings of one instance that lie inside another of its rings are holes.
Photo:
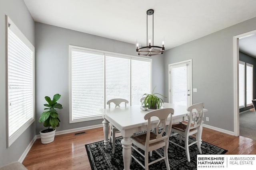
<path fill-rule="evenodd" d="M 132 58 L 131 76 L 132 105 L 141 104 L 143 94 L 150 94 L 151 62 Z"/>

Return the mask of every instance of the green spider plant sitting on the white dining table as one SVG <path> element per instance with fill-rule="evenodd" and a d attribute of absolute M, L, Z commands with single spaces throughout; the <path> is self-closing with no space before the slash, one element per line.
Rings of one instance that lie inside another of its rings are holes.
<path fill-rule="evenodd" d="M 162 98 L 160 98 L 158 96 L 162 96 L 162 97 L 166 98 L 166 96 L 164 96 L 162 94 L 154 93 L 155 88 L 156 87 L 154 87 L 151 94 L 145 93 L 143 95 L 143 96 L 146 96 L 143 103 L 146 107 L 148 107 L 148 109 L 159 109 L 160 106 L 162 106 L 162 103 L 164 103 L 164 101 L 162 100 Z"/>

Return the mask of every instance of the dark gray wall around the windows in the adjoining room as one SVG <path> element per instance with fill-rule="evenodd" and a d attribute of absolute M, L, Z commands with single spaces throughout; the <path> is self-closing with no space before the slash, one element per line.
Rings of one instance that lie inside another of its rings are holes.
<path fill-rule="evenodd" d="M 256 75 L 256 59 L 254 57 L 251 57 L 250 55 L 244 54 L 242 52 L 239 52 L 239 60 L 246 63 L 250 63 L 253 65 L 253 75 Z M 245 75 L 246 75 L 246 68 L 245 68 Z M 246 87 L 246 79 L 245 79 L 245 87 Z M 246 98 L 246 91 L 245 91 L 245 98 Z M 256 99 L 256 78 L 253 79 L 253 99 Z M 245 100 L 246 102 L 246 100 Z M 245 104 L 246 105 L 246 104 Z M 239 109 L 239 112 L 246 111 L 248 109 L 252 109 L 253 106 L 243 107 Z"/>

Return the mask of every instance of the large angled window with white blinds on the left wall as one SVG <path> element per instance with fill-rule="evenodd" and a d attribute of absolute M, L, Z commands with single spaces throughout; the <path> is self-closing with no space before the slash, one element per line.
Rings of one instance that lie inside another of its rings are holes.
<path fill-rule="evenodd" d="M 34 122 L 34 46 L 7 17 L 8 147 Z"/>

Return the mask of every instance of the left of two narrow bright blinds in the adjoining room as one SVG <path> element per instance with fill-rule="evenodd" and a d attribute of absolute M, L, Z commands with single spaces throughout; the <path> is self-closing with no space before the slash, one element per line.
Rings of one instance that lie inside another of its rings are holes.
<path fill-rule="evenodd" d="M 244 92 L 245 92 L 245 87 L 244 87 L 244 77 L 245 77 L 245 74 L 244 74 L 244 68 L 245 68 L 245 63 L 242 62 L 242 61 L 239 61 L 239 64 L 238 64 L 238 76 L 239 76 L 239 107 L 242 108 L 244 107 L 244 98 L 245 98 L 245 95 L 244 95 Z"/>

